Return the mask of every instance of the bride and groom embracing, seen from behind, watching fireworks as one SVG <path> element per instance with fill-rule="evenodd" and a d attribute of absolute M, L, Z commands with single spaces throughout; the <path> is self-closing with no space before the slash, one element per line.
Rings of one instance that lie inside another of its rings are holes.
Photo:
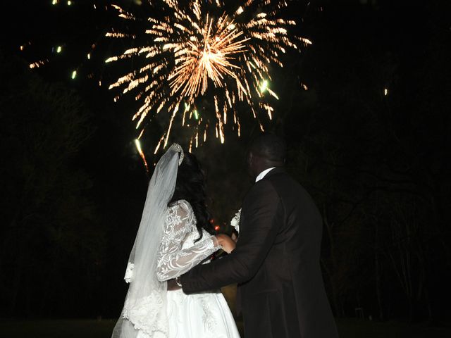
<path fill-rule="evenodd" d="M 239 235 L 215 234 L 204 174 L 173 144 L 156 164 L 125 280 L 113 338 L 239 338 L 221 287 L 237 283 L 245 338 L 336 338 L 319 263 L 321 214 L 284 170 L 285 142 L 264 133 L 249 144 L 255 180 Z M 223 249 L 228 254 L 211 261 Z"/>

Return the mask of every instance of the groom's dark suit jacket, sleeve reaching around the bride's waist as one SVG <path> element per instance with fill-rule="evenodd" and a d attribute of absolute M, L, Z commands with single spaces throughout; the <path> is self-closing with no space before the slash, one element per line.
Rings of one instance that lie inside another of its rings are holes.
<path fill-rule="evenodd" d="M 283 168 L 245 196 L 235 250 L 181 277 L 187 294 L 238 283 L 245 338 L 338 337 L 319 263 L 321 214 Z"/>

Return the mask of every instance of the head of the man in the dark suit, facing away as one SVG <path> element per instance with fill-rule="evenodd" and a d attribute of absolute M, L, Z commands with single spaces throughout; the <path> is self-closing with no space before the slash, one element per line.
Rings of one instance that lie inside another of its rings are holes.
<path fill-rule="evenodd" d="M 247 165 L 252 177 L 257 177 L 263 170 L 285 165 L 285 141 L 271 132 L 264 132 L 255 137 L 247 151 Z"/>

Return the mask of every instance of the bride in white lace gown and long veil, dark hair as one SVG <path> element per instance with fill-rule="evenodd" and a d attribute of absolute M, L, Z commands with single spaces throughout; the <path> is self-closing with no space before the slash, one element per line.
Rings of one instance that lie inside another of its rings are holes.
<path fill-rule="evenodd" d="M 156 164 L 125 272 L 130 283 L 112 338 L 240 338 L 220 290 L 184 294 L 178 280 L 235 242 L 214 235 L 205 206 L 204 175 L 194 155 L 173 144 Z"/>

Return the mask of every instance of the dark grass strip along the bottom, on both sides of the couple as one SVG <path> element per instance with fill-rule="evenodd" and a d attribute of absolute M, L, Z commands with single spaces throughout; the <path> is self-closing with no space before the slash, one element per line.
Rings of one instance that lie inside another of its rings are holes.
<path fill-rule="evenodd" d="M 0 338 L 110 338 L 116 320 L 0 320 Z M 338 320 L 340 338 L 450 338 L 450 328 Z M 237 323 L 241 329 L 241 323 Z"/>

